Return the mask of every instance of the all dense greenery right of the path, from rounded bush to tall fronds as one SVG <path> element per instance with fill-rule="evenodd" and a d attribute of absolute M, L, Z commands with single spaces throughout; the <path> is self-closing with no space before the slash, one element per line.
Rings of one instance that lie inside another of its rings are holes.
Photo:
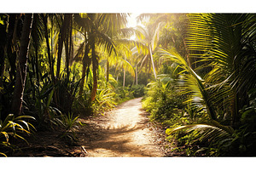
<path fill-rule="evenodd" d="M 161 49 L 169 69 L 148 84 L 143 106 L 184 156 L 255 156 L 255 15 L 188 16 L 195 62 Z"/>

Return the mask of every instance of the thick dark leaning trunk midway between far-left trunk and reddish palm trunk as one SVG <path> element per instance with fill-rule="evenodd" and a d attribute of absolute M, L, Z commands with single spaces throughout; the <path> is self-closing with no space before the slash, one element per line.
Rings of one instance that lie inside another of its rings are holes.
<path fill-rule="evenodd" d="M 56 71 L 56 77 L 60 78 L 60 71 L 61 71 L 61 54 L 62 54 L 62 48 L 63 48 L 63 42 L 67 34 L 67 24 L 70 22 L 71 19 L 69 17 L 69 14 L 64 14 L 64 20 L 63 24 L 61 26 L 61 32 L 60 32 L 60 39 L 58 42 L 58 56 L 57 56 L 57 71 Z"/>

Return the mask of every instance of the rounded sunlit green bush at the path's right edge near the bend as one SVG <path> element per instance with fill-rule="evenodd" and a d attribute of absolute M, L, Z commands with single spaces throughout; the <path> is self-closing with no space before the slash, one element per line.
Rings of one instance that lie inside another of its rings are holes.
<path fill-rule="evenodd" d="M 177 88 L 172 83 L 166 83 L 168 78 L 148 83 L 148 91 L 143 99 L 143 108 L 151 113 L 152 121 L 166 125 L 180 123 L 183 116 L 183 95 L 177 94 Z M 171 80 L 170 78 L 168 80 Z"/>

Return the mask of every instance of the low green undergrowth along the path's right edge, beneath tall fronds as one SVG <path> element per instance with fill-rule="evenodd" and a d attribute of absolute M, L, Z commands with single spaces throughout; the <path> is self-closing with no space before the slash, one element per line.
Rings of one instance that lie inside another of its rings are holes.
<path fill-rule="evenodd" d="M 166 147 L 179 156 L 255 156 L 254 94 L 250 95 L 251 106 L 240 111 L 241 127 L 234 130 L 224 124 L 224 115 L 218 116 L 222 125 L 212 121 L 201 107 L 188 104 L 189 96 L 181 94 L 173 83 L 161 78 L 151 82 L 143 97 L 143 109 L 150 113 L 150 120 L 167 127 L 170 144 Z"/>

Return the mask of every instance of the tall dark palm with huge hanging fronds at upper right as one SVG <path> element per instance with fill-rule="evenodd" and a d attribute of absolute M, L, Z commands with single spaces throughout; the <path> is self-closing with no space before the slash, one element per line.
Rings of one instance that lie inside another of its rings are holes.
<path fill-rule="evenodd" d="M 200 57 L 202 68 L 212 68 L 205 78 L 212 104 L 230 113 L 236 127 L 238 111 L 247 104 L 247 92 L 255 85 L 255 69 L 247 67 L 255 61 L 255 15 L 189 14 L 189 20 L 191 57 Z"/>

